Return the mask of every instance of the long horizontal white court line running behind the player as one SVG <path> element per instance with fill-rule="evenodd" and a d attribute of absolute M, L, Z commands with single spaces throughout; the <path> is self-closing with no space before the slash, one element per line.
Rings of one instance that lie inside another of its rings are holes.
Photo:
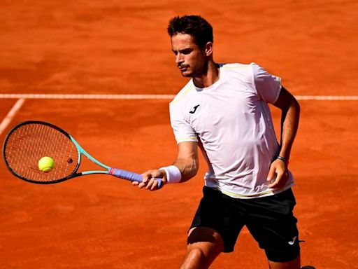
<path fill-rule="evenodd" d="M 176 95 L 57 95 L 57 94 L 0 94 L 0 99 L 173 99 Z M 296 95 L 298 100 L 356 101 L 357 95 Z"/>

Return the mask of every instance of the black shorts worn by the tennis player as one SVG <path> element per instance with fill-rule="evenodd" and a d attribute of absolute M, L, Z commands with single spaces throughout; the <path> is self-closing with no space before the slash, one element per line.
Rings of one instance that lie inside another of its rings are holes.
<path fill-rule="evenodd" d="M 294 205 L 291 189 L 263 198 L 236 199 L 203 187 L 203 198 L 190 228 L 217 230 L 224 240 L 224 252 L 231 252 L 246 225 L 270 261 L 292 261 L 300 253 Z"/>

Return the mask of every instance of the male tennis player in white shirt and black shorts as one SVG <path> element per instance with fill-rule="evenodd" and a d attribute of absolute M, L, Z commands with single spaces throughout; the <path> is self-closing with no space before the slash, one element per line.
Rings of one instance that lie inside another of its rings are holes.
<path fill-rule="evenodd" d="M 287 169 L 299 103 L 280 78 L 258 64 L 214 62 L 213 29 L 200 16 L 172 18 L 168 32 L 178 69 L 191 78 L 170 103 L 178 156 L 134 185 L 156 190 L 155 177 L 164 184 L 191 179 L 199 167 L 199 146 L 208 172 L 181 268 L 208 268 L 221 252 L 234 251 L 247 226 L 269 268 L 299 269 L 294 181 Z M 282 111 L 280 144 L 268 103 Z"/>

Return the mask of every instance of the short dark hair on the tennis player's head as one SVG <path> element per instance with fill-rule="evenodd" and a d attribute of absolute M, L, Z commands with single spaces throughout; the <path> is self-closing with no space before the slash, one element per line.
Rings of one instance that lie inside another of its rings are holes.
<path fill-rule="evenodd" d="M 191 35 L 199 48 L 203 48 L 208 42 L 213 42 L 213 27 L 198 15 L 171 18 L 168 25 L 169 36 L 173 37 L 180 33 Z"/>

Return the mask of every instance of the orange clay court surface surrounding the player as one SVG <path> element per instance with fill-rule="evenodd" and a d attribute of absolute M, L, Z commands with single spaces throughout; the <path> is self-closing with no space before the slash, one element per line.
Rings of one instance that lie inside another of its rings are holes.
<path fill-rule="evenodd" d="M 103 163 L 138 173 L 176 157 L 170 96 L 84 94 L 175 95 L 187 79 L 176 68 L 167 23 L 175 15 L 202 15 L 214 27 L 217 62 L 257 62 L 299 99 L 290 170 L 305 240 L 302 265 L 358 268 L 357 1 L 4 0 L 0 6 L 1 144 L 21 121 L 48 121 Z M 277 132 L 280 115 L 272 112 Z M 201 198 L 200 161 L 194 179 L 149 192 L 106 175 L 29 184 L 1 160 L 0 268 L 178 268 Z M 211 268 L 268 265 L 244 229 L 234 253 L 221 254 Z"/>

